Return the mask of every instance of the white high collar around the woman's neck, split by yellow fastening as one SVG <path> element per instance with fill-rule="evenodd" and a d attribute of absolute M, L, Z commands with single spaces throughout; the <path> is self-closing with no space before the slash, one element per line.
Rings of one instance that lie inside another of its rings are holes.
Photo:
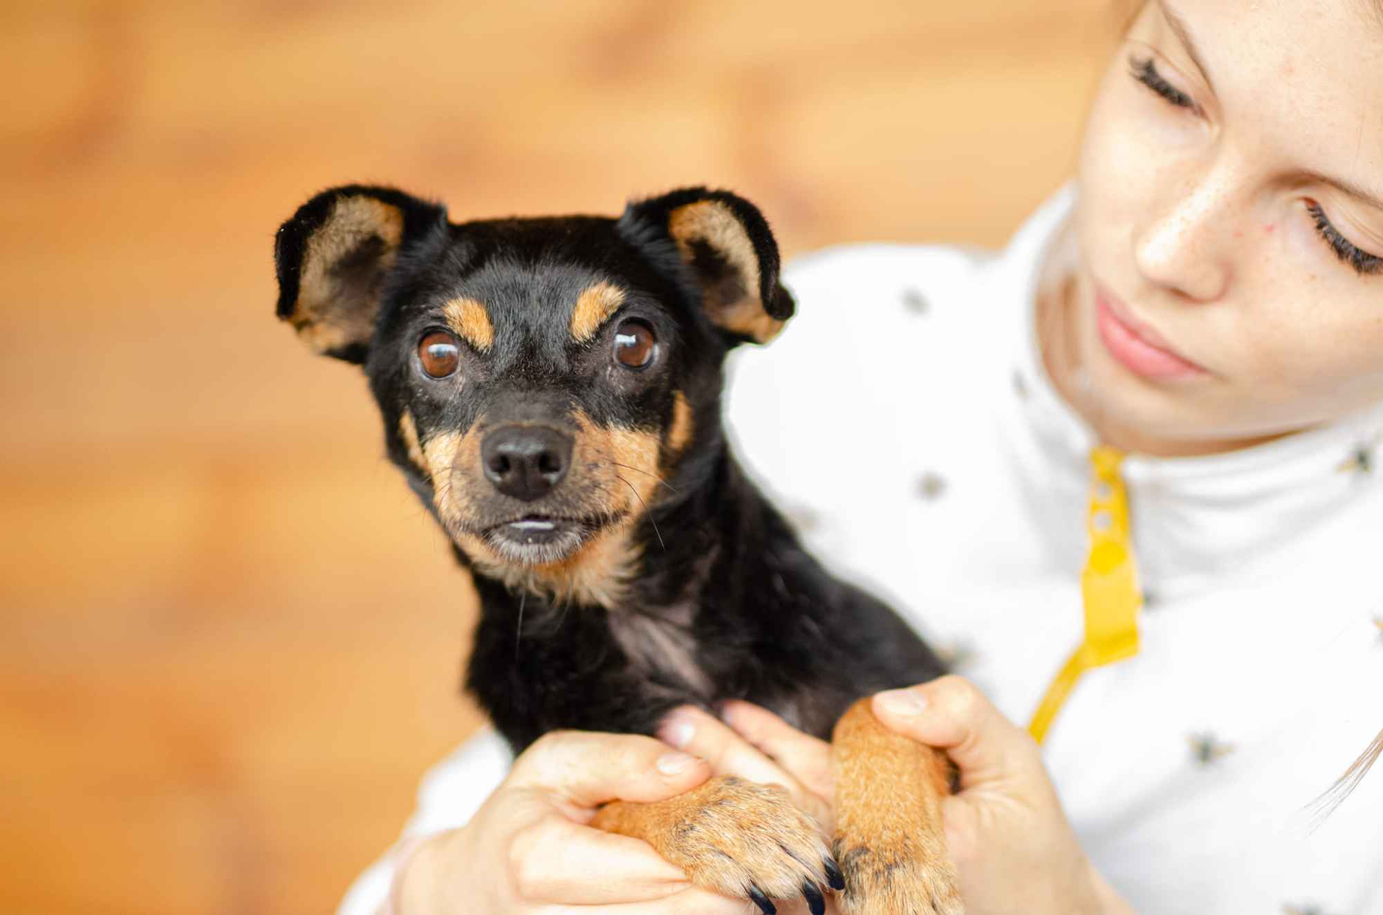
<path fill-rule="evenodd" d="M 1084 560 L 1083 527 L 1094 430 L 1061 398 L 1037 341 L 1037 282 L 1047 246 L 1072 211 L 1057 192 L 993 265 L 1008 314 L 1010 379 L 1001 411 L 1028 507 L 1062 565 Z M 1155 596 L 1196 592 L 1281 558 L 1312 528 L 1346 511 L 1383 474 L 1383 402 L 1328 426 L 1220 455 L 1130 455 L 1122 467 L 1142 581 Z M 1372 473 L 1371 473 L 1372 469 Z M 1152 596 L 1151 594 L 1151 596 Z"/>

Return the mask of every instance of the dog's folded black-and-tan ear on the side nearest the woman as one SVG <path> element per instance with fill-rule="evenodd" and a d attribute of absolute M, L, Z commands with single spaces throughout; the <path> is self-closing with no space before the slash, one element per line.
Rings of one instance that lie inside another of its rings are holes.
<path fill-rule="evenodd" d="M 620 228 L 636 243 L 658 236 L 675 243 L 707 317 L 732 341 L 768 343 L 792 317 L 792 296 L 779 282 L 777 242 L 744 198 L 683 188 L 631 203 Z"/>

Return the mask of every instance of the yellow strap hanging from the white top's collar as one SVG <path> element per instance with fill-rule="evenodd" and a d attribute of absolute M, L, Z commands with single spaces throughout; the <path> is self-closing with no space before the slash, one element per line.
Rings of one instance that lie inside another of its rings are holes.
<path fill-rule="evenodd" d="M 1119 464 L 1123 453 L 1099 446 L 1090 452 L 1090 556 L 1080 575 L 1086 604 L 1086 640 L 1047 687 L 1028 733 L 1040 744 L 1057 712 L 1086 670 L 1138 654 L 1138 568 L 1129 536 L 1129 496 Z"/>

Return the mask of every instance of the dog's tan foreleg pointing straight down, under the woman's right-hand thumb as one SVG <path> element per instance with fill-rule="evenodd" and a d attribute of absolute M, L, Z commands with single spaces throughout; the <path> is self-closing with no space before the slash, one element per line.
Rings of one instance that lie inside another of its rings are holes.
<path fill-rule="evenodd" d="M 841 717 L 831 745 L 841 908 L 849 915 L 961 915 L 942 832 L 946 756 L 885 728 L 869 699 Z"/>

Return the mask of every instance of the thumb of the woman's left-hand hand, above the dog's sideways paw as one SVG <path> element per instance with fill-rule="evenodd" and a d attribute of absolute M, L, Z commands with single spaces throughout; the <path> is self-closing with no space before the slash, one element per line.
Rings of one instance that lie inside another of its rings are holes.
<path fill-rule="evenodd" d="M 552 731 L 514 760 L 510 788 L 538 788 L 577 822 L 607 800 L 664 800 L 711 775 L 704 759 L 651 737 Z"/>

